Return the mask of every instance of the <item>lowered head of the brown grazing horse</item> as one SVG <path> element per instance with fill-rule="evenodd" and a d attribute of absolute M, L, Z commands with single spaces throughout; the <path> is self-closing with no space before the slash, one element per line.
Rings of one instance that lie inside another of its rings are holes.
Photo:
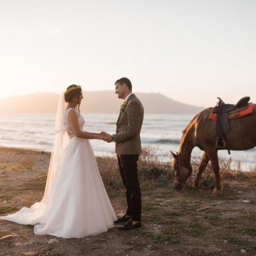
<path fill-rule="evenodd" d="M 191 168 L 184 166 L 183 161 L 179 158 L 179 154 L 174 154 L 172 151 L 173 172 L 174 172 L 174 188 L 181 191 L 189 175 L 191 175 Z"/>

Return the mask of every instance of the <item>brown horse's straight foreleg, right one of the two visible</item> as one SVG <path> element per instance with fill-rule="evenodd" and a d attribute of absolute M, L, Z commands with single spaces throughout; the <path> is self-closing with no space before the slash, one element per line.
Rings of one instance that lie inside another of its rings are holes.
<path fill-rule="evenodd" d="M 223 184 L 222 184 L 221 176 L 220 176 L 218 151 L 216 150 L 216 148 L 212 148 L 212 149 L 205 150 L 205 153 L 209 156 L 209 159 L 211 160 L 212 168 L 213 168 L 214 175 L 215 175 L 215 188 L 213 191 L 213 195 L 221 195 L 221 190 L 223 189 Z"/>

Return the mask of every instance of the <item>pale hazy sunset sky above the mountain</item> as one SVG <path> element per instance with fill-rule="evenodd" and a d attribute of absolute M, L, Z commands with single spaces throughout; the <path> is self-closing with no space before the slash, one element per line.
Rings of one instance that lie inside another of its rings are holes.
<path fill-rule="evenodd" d="M 256 102 L 254 0 L 0 0 L 0 99 L 35 92 L 162 93 Z"/>

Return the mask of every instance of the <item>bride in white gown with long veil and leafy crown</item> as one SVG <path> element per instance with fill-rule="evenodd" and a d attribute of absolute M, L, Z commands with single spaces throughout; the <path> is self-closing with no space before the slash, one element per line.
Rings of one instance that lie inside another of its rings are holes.
<path fill-rule="evenodd" d="M 104 135 L 83 131 L 82 99 L 81 86 L 76 84 L 68 86 L 60 97 L 42 201 L 1 216 L 2 220 L 35 225 L 37 235 L 64 238 L 93 236 L 113 227 L 115 212 L 88 140 L 102 140 Z"/>

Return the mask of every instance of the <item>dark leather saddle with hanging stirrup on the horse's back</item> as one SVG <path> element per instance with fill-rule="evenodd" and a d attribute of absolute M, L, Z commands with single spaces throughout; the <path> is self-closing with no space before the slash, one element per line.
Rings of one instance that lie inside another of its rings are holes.
<path fill-rule="evenodd" d="M 212 108 L 212 113 L 216 115 L 216 134 L 217 134 L 217 141 L 216 147 L 217 148 L 225 148 L 226 143 L 224 140 L 224 134 L 230 131 L 230 124 L 228 122 L 228 113 L 231 111 L 237 111 L 241 108 L 246 108 L 249 105 L 250 97 L 243 97 L 240 99 L 236 105 L 234 104 L 225 104 L 223 100 L 219 97 L 219 102 L 217 102 L 216 106 Z"/>

